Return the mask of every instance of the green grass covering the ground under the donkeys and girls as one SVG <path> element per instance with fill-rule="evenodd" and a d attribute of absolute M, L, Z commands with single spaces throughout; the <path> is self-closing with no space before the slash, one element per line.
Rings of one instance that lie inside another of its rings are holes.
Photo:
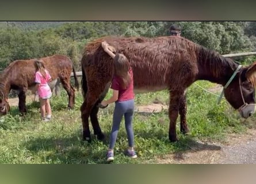
<path fill-rule="evenodd" d="M 205 88 L 213 87 L 209 82 L 197 83 Z M 123 154 L 127 147 L 127 135 L 122 123 L 113 163 L 157 163 L 158 158 L 163 155 L 187 151 L 194 145 L 200 147 L 197 140 L 225 143 L 229 133 L 246 133 L 255 120 L 254 116 L 244 122 L 225 99 L 220 105 L 216 105 L 217 97 L 196 85 L 188 89 L 187 97 L 187 120 L 190 129 L 188 135 L 179 132 L 178 117 L 179 141 L 170 143 L 167 110 L 147 116 L 135 113 L 133 127 L 138 158 L 132 160 Z M 136 105 L 150 104 L 156 100 L 168 104 L 169 93 L 159 91 L 136 95 Z M 19 116 L 17 106 L 12 107 L 10 114 L 0 118 L 0 163 L 106 163 L 105 154 L 109 144 L 114 106 L 110 105 L 98 113 L 102 131 L 107 139 L 98 141 L 92 135 L 93 141 L 89 144 L 82 140 L 79 110 L 82 101 L 81 94 L 77 94 L 74 110 L 68 111 L 66 91 L 62 91 L 60 97 L 53 97 L 51 122 L 40 121 L 39 102 L 28 104 L 29 113 L 24 117 Z M 93 133 L 91 125 L 90 129 Z"/>

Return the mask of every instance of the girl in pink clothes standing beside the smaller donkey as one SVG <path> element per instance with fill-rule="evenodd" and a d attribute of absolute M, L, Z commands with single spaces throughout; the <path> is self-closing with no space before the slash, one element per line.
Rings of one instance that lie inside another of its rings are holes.
<path fill-rule="evenodd" d="M 35 61 L 35 67 L 36 67 L 35 83 L 36 83 L 36 90 L 40 100 L 41 120 L 49 121 L 51 120 L 51 115 L 52 115 L 51 104 L 49 102 L 49 98 L 51 98 L 52 96 L 52 91 L 48 85 L 48 82 L 51 81 L 51 75 L 44 68 L 44 64 L 39 60 Z M 45 117 L 45 112 L 47 112 L 46 117 Z"/>

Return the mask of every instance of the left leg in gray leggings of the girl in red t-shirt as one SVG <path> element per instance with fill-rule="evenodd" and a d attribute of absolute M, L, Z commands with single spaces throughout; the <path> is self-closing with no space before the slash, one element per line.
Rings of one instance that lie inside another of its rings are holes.
<path fill-rule="evenodd" d="M 116 102 L 116 106 L 114 107 L 114 114 L 113 114 L 113 125 L 112 131 L 110 134 L 110 144 L 109 144 L 109 151 L 113 151 L 114 144 L 116 143 L 117 133 L 120 128 L 120 123 L 124 115 L 124 108 L 122 108 L 121 103 Z"/>

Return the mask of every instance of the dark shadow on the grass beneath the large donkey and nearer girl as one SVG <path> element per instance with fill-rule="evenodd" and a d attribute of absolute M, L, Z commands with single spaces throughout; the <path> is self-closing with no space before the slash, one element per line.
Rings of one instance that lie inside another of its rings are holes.
<path fill-rule="evenodd" d="M 108 137 L 109 133 L 106 133 L 106 139 L 104 141 L 98 141 L 97 137 L 92 136 L 93 141 L 87 143 L 82 141 L 81 132 L 76 132 L 69 137 L 37 137 L 33 140 L 29 140 L 24 143 L 24 146 L 29 150 L 33 155 L 39 157 L 39 163 L 65 163 L 65 164 L 85 164 L 85 163 L 108 163 L 105 159 L 106 150 L 108 148 L 109 142 Z M 152 148 L 158 148 L 159 141 L 163 147 L 171 148 L 170 150 L 162 151 L 161 154 L 174 154 L 174 158 L 177 160 L 182 160 L 182 153 L 186 151 L 201 151 L 201 150 L 220 150 L 220 146 L 200 143 L 199 141 L 193 140 L 189 135 L 181 136 L 181 139 L 175 143 L 170 143 L 167 137 L 163 137 L 161 131 L 156 131 L 153 134 L 138 132 L 143 139 L 155 139 L 158 143 L 152 142 Z M 119 139 L 126 137 L 125 133 L 119 134 Z M 160 140 L 159 137 L 161 137 Z M 137 138 L 139 139 L 139 138 Z M 118 144 L 127 144 L 127 141 L 120 141 Z M 154 145 L 155 144 L 155 145 Z M 125 147 L 126 145 L 124 145 Z M 136 151 L 146 150 L 145 147 L 138 148 Z M 127 159 L 123 156 L 121 151 L 116 151 L 114 163 L 143 163 L 147 158 L 153 158 L 157 156 L 156 152 L 152 154 L 145 154 L 143 156 L 139 155 L 139 158 L 136 160 Z M 41 162 L 40 162 L 41 160 Z"/>

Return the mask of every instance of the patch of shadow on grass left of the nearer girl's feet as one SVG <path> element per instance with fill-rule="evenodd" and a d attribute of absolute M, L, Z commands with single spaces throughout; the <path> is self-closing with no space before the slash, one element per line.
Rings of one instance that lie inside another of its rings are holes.
<path fill-rule="evenodd" d="M 95 144 L 98 143 L 89 144 L 78 140 L 77 135 L 72 135 L 71 137 L 57 139 L 39 137 L 27 141 L 24 146 L 39 158 L 37 159 L 39 163 L 104 163 L 105 155 L 102 155 L 103 151 L 97 150 L 98 146 Z"/>

